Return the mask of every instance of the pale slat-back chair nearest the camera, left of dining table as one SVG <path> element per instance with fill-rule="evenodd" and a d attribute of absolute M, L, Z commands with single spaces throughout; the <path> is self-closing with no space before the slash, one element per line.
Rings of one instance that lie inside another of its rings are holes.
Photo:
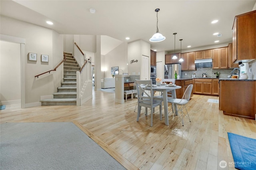
<path fill-rule="evenodd" d="M 141 107 L 146 108 L 146 115 L 148 115 L 148 108 L 151 109 L 151 123 L 153 126 L 153 109 L 159 106 L 160 120 L 162 120 L 162 101 L 154 100 L 154 93 L 152 89 L 152 80 L 135 80 L 137 96 L 138 96 L 138 115 L 137 122 L 139 121 Z"/>

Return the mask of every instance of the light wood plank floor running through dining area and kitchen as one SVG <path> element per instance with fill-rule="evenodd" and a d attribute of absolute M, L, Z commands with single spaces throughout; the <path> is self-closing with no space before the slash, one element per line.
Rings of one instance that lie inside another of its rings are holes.
<path fill-rule="evenodd" d="M 160 121 L 156 108 L 153 127 L 150 127 L 150 114 L 147 117 L 141 114 L 136 122 L 136 99 L 118 104 L 114 96 L 114 93 L 93 91 L 93 98 L 79 107 L 19 109 L 6 106 L 5 110 L 0 110 L 0 122 L 78 122 L 98 139 L 96 142 L 103 142 L 105 148 L 115 151 L 113 154 L 141 170 L 235 169 L 219 166 L 221 160 L 234 161 L 227 132 L 256 138 L 256 121 L 223 115 L 217 103 L 207 102 L 218 97 L 194 95 L 186 105 L 191 123 L 184 118 L 184 127 L 178 117 L 172 116 L 170 125 L 166 126 L 164 114 Z"/>

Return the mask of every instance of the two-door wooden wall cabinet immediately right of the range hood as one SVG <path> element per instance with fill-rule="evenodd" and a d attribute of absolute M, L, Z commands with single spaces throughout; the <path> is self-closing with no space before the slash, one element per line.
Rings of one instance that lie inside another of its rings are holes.
<path fill-rule="evenodd" d="M 228 47 L 213 49 L 212 53 L 212 69 L 227 69 Z"/>

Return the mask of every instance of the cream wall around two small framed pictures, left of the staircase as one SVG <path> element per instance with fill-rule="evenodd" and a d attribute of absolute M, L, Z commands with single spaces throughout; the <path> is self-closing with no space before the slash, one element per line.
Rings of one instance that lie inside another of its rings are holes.
<path fill-rule="evenodd" d="M 24 49 L 26 57 L 24 59 L 26 61 L 24 63 L 25 104 L 26 107 L 40 105 L 40 96 L 52 95 L 57 91 L 57 85 L 54 83 L 63 76 L 63 73 L 58 70 L 39 78 L 34 76 L 54 69 L 62 61 L 63 36 L 48 28 L 5 16 L 0 16 L 0 31 L 1 34 L 26 40 Z M 37 61 L 29 61 L 28 53 L 37 53 Z M 41 62 L 42 54 L 49 55 L 48 63 Z M 63 65 L 59 69 L 63 69 Z"/>

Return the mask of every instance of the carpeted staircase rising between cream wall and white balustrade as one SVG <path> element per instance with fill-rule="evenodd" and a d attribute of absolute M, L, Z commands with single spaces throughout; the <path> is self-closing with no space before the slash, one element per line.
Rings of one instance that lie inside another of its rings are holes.
<path fill-rule="evenodd" d="M 42 106 L 76 105 L 76 71 L 80 71 L 80 67 L 71 53 L 65 54 L 64 78 L 61 87 L 57 88 L 57 93 L 53 93 L 53 99 L 42 100 Z"/>

